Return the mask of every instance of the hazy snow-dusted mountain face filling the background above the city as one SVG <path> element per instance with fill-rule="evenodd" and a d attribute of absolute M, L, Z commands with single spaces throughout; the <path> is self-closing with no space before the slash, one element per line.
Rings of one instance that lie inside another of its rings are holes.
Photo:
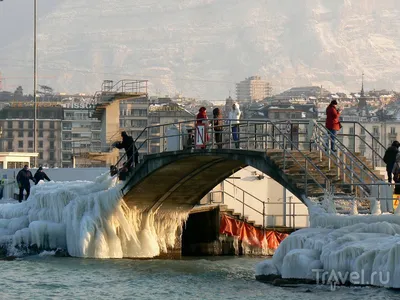
<path fill-rule="evenodd" d="M 4 89 L 32 89 L 30 1 L 0 2 Z M 400 83 L 397 0 L 38 2 L 39 83 L 60 92 L 123 78 L 148 79 L 153 95 L 200 99 L 234 96 L 252 75 L 275 92 L 358 91 L 363 72 L 366 90 Z"/>

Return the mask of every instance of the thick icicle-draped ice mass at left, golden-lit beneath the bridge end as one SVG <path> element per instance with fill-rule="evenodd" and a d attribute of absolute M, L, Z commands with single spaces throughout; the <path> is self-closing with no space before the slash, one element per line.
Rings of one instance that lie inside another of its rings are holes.
<path fill-rule="evenodd" d="M 130 208 L 121 187 L 107 173 L 94 182 L 40 183 L 28 201 L 0 204 L 0 242 L 12 253 L 36 245 L 95 258 L 154 257 L 173 247 L 188 211 Z"/>

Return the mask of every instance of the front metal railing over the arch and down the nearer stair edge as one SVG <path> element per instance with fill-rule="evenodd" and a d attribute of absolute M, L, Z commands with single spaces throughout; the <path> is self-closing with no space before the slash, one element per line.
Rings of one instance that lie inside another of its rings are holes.
<path fill-rule="evenodd" d="M 136 152 L 139 152 L 143 148 L 146 149 L 146 154 L 190 150 L 194 148 L 242 149 L 242 146 L 247 150 L 263 152 L 268 152 L 270 149 L 280 149 L 282 150 L 284 166 L 286 166 L 286 161 L 290 158 L 291 162 L 294 162 L 304 172 L 304 191 L 306 196 L 308 194 L 309 180 L 321 188 L 321 191 L 325 188 L 330 188 L 331 182 L 327 176 L 274 123 L 265 120 L 240 120 L 240 124 L 236 125 L 231 123 L 233 120 L 222 119 L 221 121 L 224 124 L 218 126 L 210 125 L 210 120 L 190 120 L 147 126 L 136 139 L 137 141 L 146 135 L 144 141 L 137 147 Z M 204 138 L 200 138 L 201 145 L 195 142 L 199 125 L 205 126 L 206 130 Z M 222 130 L 215 130 L 216 127 Z M 238 134 L 234 131 L 237 127 L 239 129 Z M 274 132 L 277 133 L 276 136 L 271 134 Z M 217 134 L 222 135 L 221 141 L 216 142 Z M 117 165 L 124 158 L 125 155 L 119 159 Z M 310 170 L 313 170 L 317 174 L 309 172 Z M 283 171 L 285 171 L 285 167 Z M 321 183 L 321 179 L 323 183 Z"/>

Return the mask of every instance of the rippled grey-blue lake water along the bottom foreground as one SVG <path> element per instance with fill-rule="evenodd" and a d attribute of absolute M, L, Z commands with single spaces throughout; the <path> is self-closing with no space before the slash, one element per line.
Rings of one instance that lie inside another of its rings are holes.
<path fill-rule="evenodd" d="M 399 299 L 373 287 L 275 287 L 254 279 L 264 258 L 175 260 L 30 256 L 0 261 L 0 299 Z"/>

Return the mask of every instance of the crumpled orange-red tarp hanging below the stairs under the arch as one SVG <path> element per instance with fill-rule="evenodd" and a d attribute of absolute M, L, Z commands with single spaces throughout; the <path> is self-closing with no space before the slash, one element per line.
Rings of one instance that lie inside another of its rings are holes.
<path fill-rule="evenodd" d="M 260 248 L 267 242 L 268 248 L 273 250 L 277 249 L 279 244 L 288 236 L 287 233 L 276 231 L 265 231 L 263 233 L 261 229 L 254 228 L 227 215 L 221 216 L 219 233 L 239 237 L 239 240 Z"/>

